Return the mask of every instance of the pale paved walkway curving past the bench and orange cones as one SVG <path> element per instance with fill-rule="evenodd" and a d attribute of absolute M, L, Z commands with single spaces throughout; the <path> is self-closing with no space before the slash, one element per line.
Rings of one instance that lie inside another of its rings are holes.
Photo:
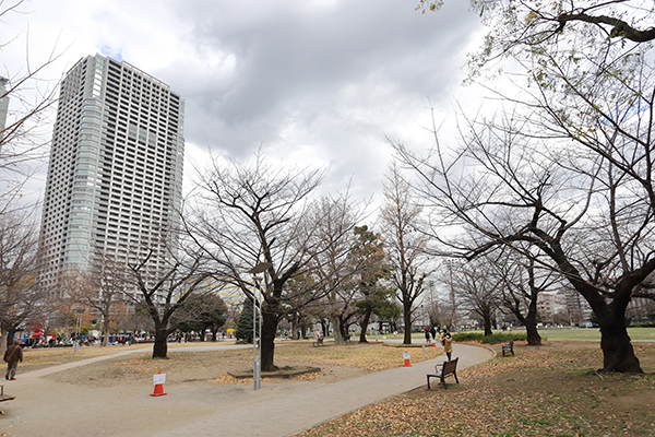
<path fill-rule="evenodd" d="M 484 347 L 464 344 L 453 347 L 453 356 L 460 357 L 458 368 L 483 363 L 492 356 L 492 352 Z M 41 378 L 55 371 L 134 352 L 138 351 L 21 375 L 17 381 L 12 381 L 12 394 L 19 398 L 7 405 L 5 410 L 11 409 L 11 413 L 0 417 L 0 432 L 15 437 L 282 437 L 424 386 L 426 374 L 433 371 L 434 365 L 443 359 L 415 363 L 412 367 L 393 368 L 334 383 L 263 383 L 257 391 L 251 385 L 167 385 L 168 394 L 159 398 L 148 395 L 152 382 L 88 389 L 82 385 L 63 385 Z M 421 353 L 417 349 L 410 352 Z M 64 390 L 66 395 L 62 395 Z M 3 426 L 7 429 L 2 429 Z"/>

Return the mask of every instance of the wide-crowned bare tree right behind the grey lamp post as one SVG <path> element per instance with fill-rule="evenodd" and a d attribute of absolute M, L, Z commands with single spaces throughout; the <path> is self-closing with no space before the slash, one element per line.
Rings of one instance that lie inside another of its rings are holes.
<path fill-rule="evenodd" d="M 322 250 L 315 223 L 308 220 L 309 200 L 322 176 L 318 170 L 274 167 L 261 154 L 253 162 L 230 161 L 201 175 L 199 205 L 189 233 L 215 263 L 216 275 L 254 298 L 250 281 L 255 265 L 266 267 L 262 286 L 262 370 L 275 369 L 277 324 L 294 310 L 297 293 L 287 282 L 312 269 Z M 302 305 L 322 291 L 302 290 Z"/>

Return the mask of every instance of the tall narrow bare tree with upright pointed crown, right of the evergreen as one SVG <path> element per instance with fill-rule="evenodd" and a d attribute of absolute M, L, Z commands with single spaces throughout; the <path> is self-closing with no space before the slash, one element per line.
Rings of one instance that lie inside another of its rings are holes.
<path fill-rule="evenodd" d="M 412 344 L 414 305 L 424 293 L 426 277 L 433 268 L 429 265 L 428 238 L 420 229 L 421 208 L 414 200 L 412 187 L 403 179 L 395 162 L 385 176 L 384 198 L 382 239 L 392 267 L 391 281 L 403 305 L 403 343 Z"/>

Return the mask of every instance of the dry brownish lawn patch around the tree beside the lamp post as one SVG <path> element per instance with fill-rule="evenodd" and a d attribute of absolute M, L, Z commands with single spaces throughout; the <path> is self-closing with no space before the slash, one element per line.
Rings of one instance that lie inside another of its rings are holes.
<path fill-rule="evenodd" d="M 327 344 L 313 347 L 311 341 L 289 341 L 275 347 L 275 364 L 282 368 L 320 367 L 320 374 L 302 376 L 298 379 L 321 381 L 320 378 L 325 377 L 323 379 L 329 382 L 401 367 L 404 363 L 403 352 L 397 347 L 385 347 L 382 343 Z M 442 353 L 440 347 L 427 347 L 426 359 L 434 358 Z M 412 362 L 424 359 L 420 347 L 413 349 L 410 354 Z M 150 352 L 134 353 L 60 371 L 48 378 L 60 382 L 108 387 L 151 380 L 152 375 L 160 371 L 166 374 L 167 383 L 252 383 L 252 378 L 236 380 L 227 375 L 252 370 L 250 347 L 203 352 L 176 352 L 175 349 L 169 349 L 168 359 L 153 359 L 151 356 Z M 265 374 L 262 374 L 262 377 L 264 382 L 270 382 Z"/>

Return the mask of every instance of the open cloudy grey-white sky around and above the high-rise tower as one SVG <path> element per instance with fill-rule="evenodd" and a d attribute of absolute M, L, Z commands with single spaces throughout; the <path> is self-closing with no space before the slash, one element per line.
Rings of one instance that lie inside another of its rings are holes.
<path fill-rule="evenodd" d="M 88 55 L 124 60 L 186 99 L 186 190 L 210 150 L 245 160 L 261 146 L 324 168 L 324 190 L 352 178 L 355 196 L 380 201 L 385 135 L 427 149 L 429 102 L 452 126 L 476 95 L 461 83 L 479 17 L 464 0 L 426 14 L 416 3 L 34 0 L 2 16 L 0 74 L 25 71 L 26 47 L 33 66 L 61 54 L 41 74 L 52 81 Z M 45 168 L 31 187 L 43 191 Z"/>

